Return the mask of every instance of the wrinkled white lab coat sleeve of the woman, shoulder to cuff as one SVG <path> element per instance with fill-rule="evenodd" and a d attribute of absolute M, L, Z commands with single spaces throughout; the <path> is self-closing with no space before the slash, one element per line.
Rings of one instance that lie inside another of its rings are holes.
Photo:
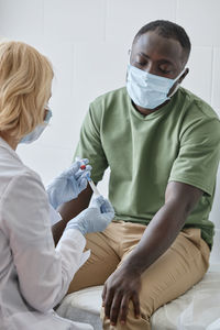
<path fill-rule="evenodd" d="M 55 249 L 46 191 L 33 174 L 12 179 L 1 209 L 21 294 L 33 308 L 47 311 L 66 294 L 86 240 L 68 230 Z"/>

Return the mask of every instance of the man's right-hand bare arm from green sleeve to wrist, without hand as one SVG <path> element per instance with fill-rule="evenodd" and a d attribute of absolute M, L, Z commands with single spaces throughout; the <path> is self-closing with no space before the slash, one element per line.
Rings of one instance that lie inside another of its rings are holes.
<path fill-rule="evenodd" d="M 172 245 L 202 194 L 196 187 L 170 182 L 166 188 L 165 205 L 154 216 L 125 262 L 129 267 L 142 274 L 154 263 Z"/>

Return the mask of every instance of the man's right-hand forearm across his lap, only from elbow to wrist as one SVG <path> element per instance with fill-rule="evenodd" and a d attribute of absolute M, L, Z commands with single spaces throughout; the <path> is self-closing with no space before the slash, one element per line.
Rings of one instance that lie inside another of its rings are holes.
<path fill-rule="evenodd" d="M 186 210 L 166 204 L 147 226 L 140 243 L 122 264 L 131 272 L 142 274 L 174 242 L 187 218 Z"/>

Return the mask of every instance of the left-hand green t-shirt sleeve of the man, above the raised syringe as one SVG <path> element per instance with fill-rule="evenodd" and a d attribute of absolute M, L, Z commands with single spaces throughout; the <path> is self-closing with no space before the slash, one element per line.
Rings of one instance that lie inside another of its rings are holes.
<path fill-rule="evenodd" d="M 101 117 L 100 107 L 91 103 L 84 120 L 79 142 L 74 156 L 74 158 L 79 156 L 89 160 L 89 164 L 92 166 L 91 178 L 95 183 L 101 180 L 108 167 L 100 134 Z"/>

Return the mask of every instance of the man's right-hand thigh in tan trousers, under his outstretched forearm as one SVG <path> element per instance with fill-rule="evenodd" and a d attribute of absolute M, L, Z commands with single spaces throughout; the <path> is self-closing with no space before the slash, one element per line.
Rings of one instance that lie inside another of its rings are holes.
<path fill-rule="evenodd" d="M 199 229 L 178 234 L 173 245 L 142 275 L 141 308 L 145 317 L 183 295 L 205 275 L 210 250 Z"/>

